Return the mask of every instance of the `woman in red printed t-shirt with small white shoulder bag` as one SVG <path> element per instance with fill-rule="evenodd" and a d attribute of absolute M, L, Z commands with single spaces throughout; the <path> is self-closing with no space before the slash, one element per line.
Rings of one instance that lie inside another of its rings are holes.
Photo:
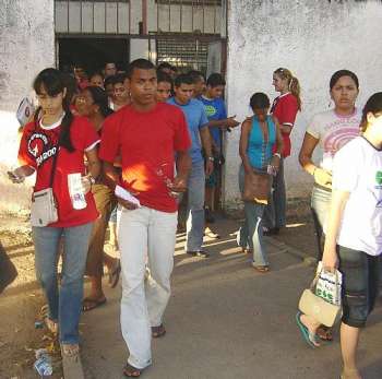
<path fill-rule="evenodd" d="M 49 307 L 46 324 L 53 333 L 59 330 L 63 356 L 79 357 L 83 275 L 93 222 L 98 216 L 91 186 L 100 171 L 96 150 L 99 137 L 86 118 L 71 114 L 64 83 L 62 73 L 56 69 L 45 69 L 35 79 L 40 108 L 23 130 L 21 166 L 9 176 L 14 182 L 22 182 L 36 173 L 31 221 L 36 274 Z M 88 162 L 87 176 L 84 155 Z"/>

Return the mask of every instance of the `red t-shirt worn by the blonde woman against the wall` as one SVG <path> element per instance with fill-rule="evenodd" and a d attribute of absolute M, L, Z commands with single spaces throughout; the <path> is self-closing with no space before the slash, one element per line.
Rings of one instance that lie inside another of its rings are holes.
<path fill-rule="evenodd" d="M 276 97 L 273 102 L 271 114 L 276 117 L 276 119 L 279 122 L 279 126 L 283 123 L 289 127 L 294 127 L 296 115 L 298 112 L 298 103 L 295 95 L 291 93 L 286 93 L 284 95 L 280 95 Z M 290 133 L 284 133 L 283 134 L 283 141 L 284 141 L 284 151 L 283 156 L 287 157 L 290 155 Z"/>

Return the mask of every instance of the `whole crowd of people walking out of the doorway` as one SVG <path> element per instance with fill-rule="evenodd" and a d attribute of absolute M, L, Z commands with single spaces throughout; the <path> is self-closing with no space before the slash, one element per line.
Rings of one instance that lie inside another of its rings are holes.
<path fill-rule="evenodd" d="M 112 286 L 122 276 L 120 321 L 130 353 L 123 368 L 128 377 L 139 377 L 152 364 L 151 340 L 166 333 L 163 318 L 170 297 L 177 210 L 186 191 L 184 250 L 208 256 L 202 248 L 205 213 L 211 216 L 220 181 L 223 132 L 239 125 L 227 117 L 219 73 L 205 81 L 201 72 L 177 74 L 170 69 L 165 64 L 156 70 L 138 59 L 127 72 L 117 73 L 109 63 L 86 83 L 77 75 L 76 96 L 61 72 L 41 71 L 34 82 L 40 107 L 23 129 L 21 166 L 12 173 L 15 182 L 36 173 L 34 191 L 52 188 L 56 199 L 58 220 L 33 226 L 33 239 L 37 277 L 49 308 L 46 323 L 59 331 L 62 354 L 79 355 L 81 311 L 106 301 L 106 264 Z M 279 96 L 272 107 L 266 94 L 251 96 L 253 116 L 242 122 L 239 144 L 241 191 L 246 177 L 273 177 L 265 202 L 244 201 L 246 220 L 238 234 L 239 246 L 253 254 L 253 268 L 261 273 L 270 271 L 263 235 L 277 234 L 286 224 L 284 163 L 301 109 L 299 81 L 289 70 L 275 70 L 273 84 Z M 334 109 L 313 117 L 299 155 L 303 169 L 314 177 L 311 209 L 319 259 L 329 270 L 339 267 L 344 275 L 341 340 L 346 379 L 360 378 L 355 358 L 359 328 L 375 301 L 382 252 L 382 93 L 374 94 L 361 112 L 355 106 L 358 91 L 355 73 L 333 74 Z M 315 165 L 312 154 L 318 145 L 323 155 Z M 82 209 L 73 205 L 72 174 L 82 176 Z M 104 252 L 117 204 L 120 260 Z M 83 299 L 85 272 L 92 289 Z M 319 346 L 320 325 L 306 315 L 299 321 L 307 342 Z"/>

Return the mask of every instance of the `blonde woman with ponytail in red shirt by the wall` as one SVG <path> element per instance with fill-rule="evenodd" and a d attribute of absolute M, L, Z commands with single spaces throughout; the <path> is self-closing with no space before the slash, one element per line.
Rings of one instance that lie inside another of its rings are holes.
<path fill-rule="evenodd" d="M 264 213 L 264 233 L 266 235 L 278 234 L 279 228 L 286 224 L 284 159 L 290 155 L 290 133 L 295 125 L 296 115 L 301 110 L 300 83 L 288 69 L 279 68 L 274 71 L 273 85 L 280 95 L 274 99 L 271 114 L 279 123 L 284 150 L 279 169 L 273 181 L 273 193 Z"/>

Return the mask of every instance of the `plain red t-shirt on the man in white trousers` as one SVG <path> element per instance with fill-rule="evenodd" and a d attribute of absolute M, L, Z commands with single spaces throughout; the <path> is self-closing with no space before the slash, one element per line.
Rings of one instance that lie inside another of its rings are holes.
<path fill-rule="evenodd" d="M 153 110 L 140 112 L 128 105 L 105 120 L 99 157 L 112 164 L 121 155 L 120 186 L 144 206 L 176 212 L 178 204 L 166 181 L 174 179 L 175 153 L 190 147 L 181 109 L 158 103 Z"/>

